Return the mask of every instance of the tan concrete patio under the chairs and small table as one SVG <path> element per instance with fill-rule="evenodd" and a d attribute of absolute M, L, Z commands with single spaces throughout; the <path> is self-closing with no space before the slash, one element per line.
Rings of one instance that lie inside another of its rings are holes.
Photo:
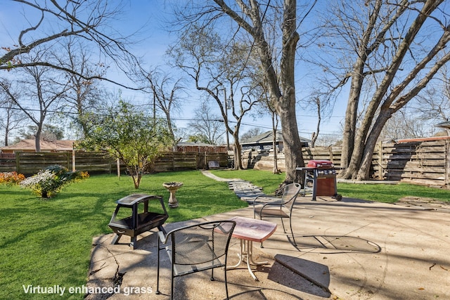
<path fill-rule="evenodd" d="M 279 219 L 269 220 L 278 223 L 276 233 L 264 248 L 254 244 L 256 260 L 269 264 L 254 268 L 259 281 L 245 266 L 227 271 L 230 299 L 450 299 L 448 204 L 298 197 L 293 214 L 297 247 Z M 252 207 L 165 227 L 233 216 L 252 218 Z M 169 299 L 169 260 L 163 252 L 162 294 L 155 294 L 157 235 L 141 235 L 135 250 L 127 238 L 115 245 L 113 234 L 94 238 L 87 286 L 116 290 L 86 299 Z M 229 265 L 238 261 L 238 249 L 233 238 Z M 223 271 L 215 270 L 214 277 L 210 281 L 206 271 L 176 278 L 174 299 L 225 299 Z"/>

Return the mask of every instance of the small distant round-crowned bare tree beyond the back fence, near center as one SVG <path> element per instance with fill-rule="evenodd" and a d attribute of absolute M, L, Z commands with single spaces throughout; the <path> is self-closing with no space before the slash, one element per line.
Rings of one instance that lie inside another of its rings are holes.
<path fill-rule="evenodd" d="M 223 141 L 221 137 L 225 133 L 224 120 L 220 115 L 214 115 L 207 103 L 202 103 L 195 110 L 195 120 L 188 123 L 189 129 L 194 135 L 205 136 L 206 143 L 218 145 Z"/>

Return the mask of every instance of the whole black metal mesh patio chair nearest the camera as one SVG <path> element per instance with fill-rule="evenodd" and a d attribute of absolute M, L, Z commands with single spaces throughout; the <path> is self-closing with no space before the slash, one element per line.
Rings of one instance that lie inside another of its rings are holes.
<path fill-rule="evenodd" d="M 160 251 L 165 249 L 172 264 L 170 299 L 174 296 L 175 277 L 211 270 L 211 280 L 214 280 L 214 268 L 220 267 L 224 267 L 226 299 L 228 299 L 226 256 L 234 226 L 235 221 L 212 221 L 177 228 L 169 231 L 167 235 L 158 231 L 156 294 L 160 294 Z M 170 244 L 164 247 L 169 240 Z"/>

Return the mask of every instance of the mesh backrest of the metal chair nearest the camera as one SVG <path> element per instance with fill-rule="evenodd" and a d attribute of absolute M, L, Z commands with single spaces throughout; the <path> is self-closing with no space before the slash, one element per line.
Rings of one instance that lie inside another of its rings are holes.
<path fill-rule="evenodd" d="M 172 263 L 216 268 L 226 263 L 235 221 L 212 221 L 172 230 Z"/>

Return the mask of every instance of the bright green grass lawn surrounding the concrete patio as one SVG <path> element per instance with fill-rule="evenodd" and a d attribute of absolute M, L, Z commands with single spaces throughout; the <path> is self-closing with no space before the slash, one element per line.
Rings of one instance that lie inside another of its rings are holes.
<path fill-rule="evenodd" d="M 221 171 L 222 178 L 241 178 L 273 193 L 284 174 L 270 171 Z M 184 183 L 176 197 L 180 206 L 168 209 L 168 222 L 195 219 L 241 207 L 224 182 L 207 178 L 200 171 L 180 171 L 144 176 L 139 190 L 134 190 L 131 178 L 97 175 L 69 185 L 48 200 L 32 195 L 18 186 L 0 185 L 0 299 L 82 299 L 83 295 L 68 292 L 65 296 L 25 294 L 23 285 L 34 287 L 81 287 L 86 284 L 92 237 L 111 233 L 108 227 L 115 201 L 132 193 L 163 195 L 167 181 Z M 356 185 L 339 184 L 344 197 L 395 202 L 411 195 L 450 200 L 449 190 L 416 185 Z"/>

